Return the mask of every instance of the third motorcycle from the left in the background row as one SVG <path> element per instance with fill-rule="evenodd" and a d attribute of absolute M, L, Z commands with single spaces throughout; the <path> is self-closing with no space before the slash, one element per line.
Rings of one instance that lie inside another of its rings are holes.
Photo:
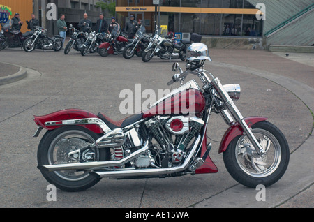
<path fill-rule="evenodd" d="M 71 38 L 64 49 L 64 54 L 68 54 L 73 47 L 76 51 L 81 51 L 82 45 L 88 38 L 88 32 L 83 32 L 75 29 L 72 24 L 70 24 Z"/>

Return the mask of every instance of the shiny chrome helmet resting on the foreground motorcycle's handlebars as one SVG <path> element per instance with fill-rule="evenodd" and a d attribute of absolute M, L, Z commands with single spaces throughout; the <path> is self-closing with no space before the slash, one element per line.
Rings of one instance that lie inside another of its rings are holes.
<path fill-rule="evenodd" d="M 211 61 L 208 47 L 203 43 L 193 43 L 186 50 L 187 61 L 203 61 L 205 59 Z"/>

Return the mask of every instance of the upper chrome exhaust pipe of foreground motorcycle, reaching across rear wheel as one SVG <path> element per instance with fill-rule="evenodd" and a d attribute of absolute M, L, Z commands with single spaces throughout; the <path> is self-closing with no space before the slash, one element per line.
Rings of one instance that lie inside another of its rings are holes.
<path fill-rule="evenodd" d="M 105 148 L 103 148 L 105 149 Z M 111 166 L 124 165 L 129 161 L 132 161 L 133 158 L 137 158 L 149 150 L 149 140 L 144 143 L 144 146 L 141 149 L 133 152 L 125 158 L 121 158 L 119 161 L 95 161 L 95 162 L 85 162 L 85 163 L 66 163 L 66 164 L 55 164 L 55 165 L 38 165 L 39 170 L 47 171 L 57 171 L 57 170 L 89 170 L 94 168 L 107 168 Z"/>

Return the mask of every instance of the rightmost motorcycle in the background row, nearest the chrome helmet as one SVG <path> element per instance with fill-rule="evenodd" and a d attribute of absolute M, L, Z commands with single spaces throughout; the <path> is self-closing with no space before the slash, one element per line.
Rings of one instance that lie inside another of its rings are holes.
<path fill-rule="evenodd" d="M 154 55 L 160 57 L 160 59 L 181 59 L 185 61 L 186 47 L 191 44 L 190 40 L 181 40 L 181 42 L 176 44 L 175 41 L 172 40 L 172 37 L 173 36 L 165 36 L 165 38 L 163 38 L 161 29 L 157 30 L 142 54 L 142 61 L 147 62 L 151 60 Z"/>

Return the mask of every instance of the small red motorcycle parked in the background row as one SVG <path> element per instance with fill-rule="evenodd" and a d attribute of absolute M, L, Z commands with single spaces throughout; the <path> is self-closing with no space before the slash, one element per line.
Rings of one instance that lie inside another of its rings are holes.
<path fill-rule="evenodd" d="M 99 46 L 98 53 L 102 57 L 107 57 L 108 54 L 119 54 L 123 52 L 127 44 L 128 39 L 120 35 L 120 25 L 117 24 L 107 36 L 107 42 Z"/>

